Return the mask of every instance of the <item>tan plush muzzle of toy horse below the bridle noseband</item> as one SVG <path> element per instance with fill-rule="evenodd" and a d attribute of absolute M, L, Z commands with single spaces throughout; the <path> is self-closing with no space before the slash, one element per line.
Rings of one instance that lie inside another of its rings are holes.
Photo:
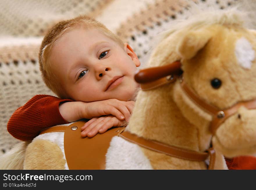
<path fill-rule="evenodd" d="M 240 114 L 240 119 L 238 118 Z M 256 150 L 256 110 L 241 107 L 238 113 L 230 117 L 213 138 L 216 149 L 225 153 L 227 157 L 236 155 L 253 155 Z M 223 137 L 229 138 L 223 138 Z"/>

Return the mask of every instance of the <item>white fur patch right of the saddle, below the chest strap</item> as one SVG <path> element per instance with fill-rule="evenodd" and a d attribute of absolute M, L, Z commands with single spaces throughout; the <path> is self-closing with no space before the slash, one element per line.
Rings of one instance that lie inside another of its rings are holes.
<path fill-rule="evenodd" d="M 113 137 L 106 153 L 106 169 L 153 169 L 140 146 Z"/>

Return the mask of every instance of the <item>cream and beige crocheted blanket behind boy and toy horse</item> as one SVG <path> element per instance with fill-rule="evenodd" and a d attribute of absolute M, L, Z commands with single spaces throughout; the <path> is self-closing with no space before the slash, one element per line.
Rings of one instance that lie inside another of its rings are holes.
<path fill-rule="evenodd" d="M 192 1 L 192 0 L 191 0 Z M 256 0 L 194 0 L 200 6 L 256 10 Z M 36 94 L 54 95 L 42 82 L 38 51 L 56 22 L 87 14 L 128 42 L 143 68 L 152 39 L 177 19 L 189 17 L 185 0 L 1 0 L 0 1 L 0 155 L 19 142 L 6 130 L 12 113 Z M 252 27 L 256 12 L 250 12 Z"/>

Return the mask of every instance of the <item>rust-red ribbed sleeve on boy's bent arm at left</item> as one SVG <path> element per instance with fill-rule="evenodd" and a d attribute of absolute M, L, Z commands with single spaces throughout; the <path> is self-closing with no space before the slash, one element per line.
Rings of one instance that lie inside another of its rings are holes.
<path fill-rule="evenodd" d="M 7 130 L 19 140 L 32 140 L 42 129 L 68 123 L 59 112 L 59 104 L 71 101 L 50 95 L 35 95 L 13 113 Z"/>

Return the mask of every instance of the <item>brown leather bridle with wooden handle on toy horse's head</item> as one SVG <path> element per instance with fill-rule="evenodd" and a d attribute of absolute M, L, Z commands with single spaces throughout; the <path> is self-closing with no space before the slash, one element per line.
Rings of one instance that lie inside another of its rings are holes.
<path fill-rule="evenodd" d="M 216 106 L 213 106 L 207 103 L 205 100 L 200 98 L 183 80 L 181 75 L 182 71 L 180 69 L 180 61 L 175 61 L 171 64 L 167 64 L 160 67 L 153 67 L 140 70 L 135 75 L 136 82 L 141 84 L 141 89 L 143 91 L 151 90 L 175 82 L 176 79 L 179 79 L 182 90 L 186 95 L 201 109 L 212 115 L 212 120 L 210 122 L 209 129 L 212 135 L 215 135 L 218 127 L 230 116 L 234 115 L 237 110 L 244 106 L 247 109 L 256 109 L 256 99 L 238 102 L 233 106 L 225 109 L 219 109 Z"/>

